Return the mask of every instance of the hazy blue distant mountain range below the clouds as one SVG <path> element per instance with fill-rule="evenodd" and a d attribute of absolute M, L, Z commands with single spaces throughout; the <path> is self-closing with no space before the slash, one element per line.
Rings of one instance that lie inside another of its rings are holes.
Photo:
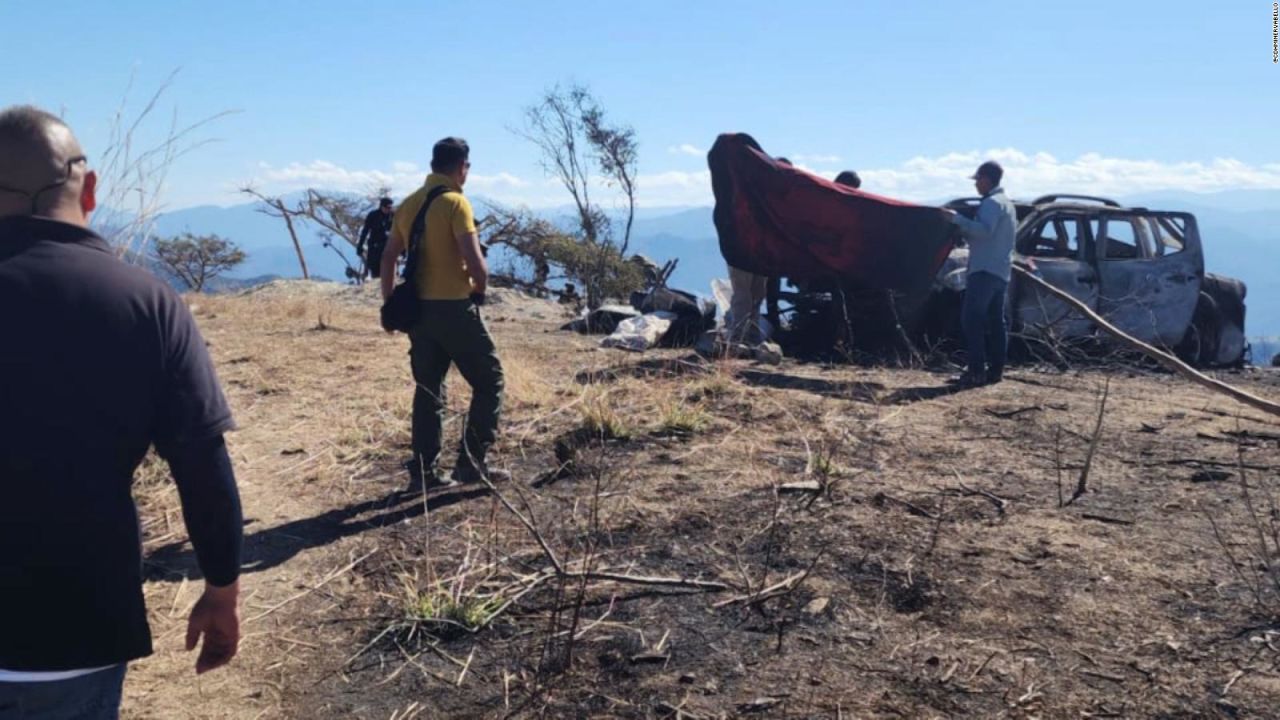
<path fill-rule="evenodd" d="M 1248 333 L 1280 336 L 1280 191 L 1219 193 L 1162 192 L 1119 199 L 1128 205 L 1196 214 L 1210 272 L 1243 279 L 1248 292 Z M 182 232 L 216 233 L 236 241 L 248 260 L 236 278 L 298 277 L 298 261 L 284 223 L 256 211 L 256 204 L 229 208 L 200 206 L 161 217 L 161 236 Z M 544 210 L 553 220 L 570 215 L 568 208 Z M 300 225 L 300 238 L 312 277 L 340 281 L 346 265 L 324 247 L 315 228 Z M 351 251 L 343 247 L 351 258 Z M 662 263 L 680 259 L 672 286 L 709 295 L 710 281 L 723 277 L 712 208 L 650 208 L 637 213 L 632 251 Z M 353 260 L 353 258 L 352 258 Z"/>

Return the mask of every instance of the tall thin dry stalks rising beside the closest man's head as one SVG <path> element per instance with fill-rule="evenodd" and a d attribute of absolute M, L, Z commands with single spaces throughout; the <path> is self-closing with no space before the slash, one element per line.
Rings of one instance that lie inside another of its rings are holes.
<path fill-rule="evenodd" d="M 93 229 L 120 258 L 132 255 L 137 259 L 142 255 L 156 218 L 164 210 L 161 191 L 173 164 L 183 155 L 212 142 L 197 135 L 215 120 L 234 113 L 225 110 L 183 124 L 174 109 L 164 135 L 154 143 L 145 145 L 142 138 L 150 132 L 154 124 L 151 120 L 177 76 L 178 70 L 169 73 L 142 109 L 132 115 L 129 95 L 133 78 L 129 78 L 120 105 L 111 118 L 106 147 L 95 161 L 101 188 L 99 206 L 102 210 L 93 215 Z"/>

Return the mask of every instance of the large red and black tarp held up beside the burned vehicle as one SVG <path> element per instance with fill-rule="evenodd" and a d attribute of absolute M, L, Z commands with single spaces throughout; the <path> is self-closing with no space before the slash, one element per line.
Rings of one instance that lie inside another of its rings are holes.
<path fill-rule="evenodd" d="M 707 163 L 730 265 L 852 290 L 927 292 L 951 249 L 936 208 L 836 184 L 778 163 L 749 135 L 716 140 Z"/>

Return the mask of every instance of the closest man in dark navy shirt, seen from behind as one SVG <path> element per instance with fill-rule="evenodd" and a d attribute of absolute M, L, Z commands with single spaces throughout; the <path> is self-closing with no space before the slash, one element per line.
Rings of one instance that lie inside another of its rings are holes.
<path fill-rule="evenodd" d="M 151 653 L 133 471 L 173 470 L 205 578 L 196 671 L 237 650 L 242 516 L 227 401 L 182 299 L 88 229 L 70 129 L 0 111 L 0 717 L 115 717 Z"/>

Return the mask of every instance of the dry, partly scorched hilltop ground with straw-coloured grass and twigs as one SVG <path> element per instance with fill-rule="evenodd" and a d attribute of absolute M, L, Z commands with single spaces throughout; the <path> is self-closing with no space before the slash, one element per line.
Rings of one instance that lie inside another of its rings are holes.
<path fill-rule="evenodd" d="M 1280 702 L 1280 597 L 1257 569 L 1274 536 L 1256 532 L 1275 527 L 1280 421 L 1172 377 L 1021 368 L 956 393 L 920 370 L 634 356 L 507 296 L 489 316 L 516 480 L 424 497 L 397 473 L 407 343 L 378 331 L 367 290 L 192 304 L 242 425 L 246 639 L 232 667 L 191 674 L 198 573 L 148 465 L 157 655 L 133 667 L 125 716 L 1266 717 Z M 1274 373 L 1224 377 L 1280 393 Z M 1107 383 L 1088 492 L 1062 506 Z"/>

